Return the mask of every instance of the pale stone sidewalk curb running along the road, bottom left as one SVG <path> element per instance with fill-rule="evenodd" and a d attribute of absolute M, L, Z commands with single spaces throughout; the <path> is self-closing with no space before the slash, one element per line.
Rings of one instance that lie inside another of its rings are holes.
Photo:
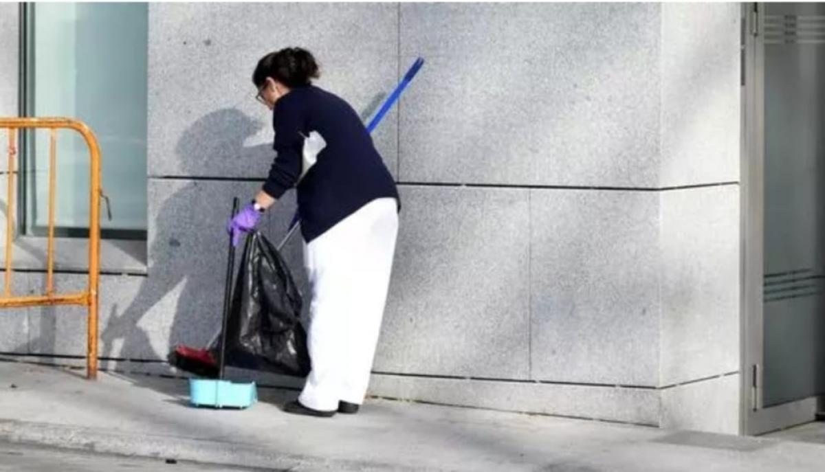
<path fill-rule="evenodd" d="M 52 446 L 76 451 L 158 459 L 189 460 L 274 470 L 422 470 L 403 465 L 290 455 L 228 441 L 209 441 L 163 435 L 134 435 L 111 429 L 94 429 L 0 418 L 0 441 Z"/>

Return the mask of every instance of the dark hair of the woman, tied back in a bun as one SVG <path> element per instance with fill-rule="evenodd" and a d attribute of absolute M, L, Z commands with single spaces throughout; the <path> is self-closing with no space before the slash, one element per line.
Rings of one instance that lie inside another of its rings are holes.
<path fill-rule="evenodd" d="M 302 48 L 285 48 L 266 54 L 258 61 L 252 73 L 252 83 L 260 88 L 266 78 L 271 77 L 286 87 L 306 87 L 311 83 L 309 79 L 320 76 L 312 53 Z"/>

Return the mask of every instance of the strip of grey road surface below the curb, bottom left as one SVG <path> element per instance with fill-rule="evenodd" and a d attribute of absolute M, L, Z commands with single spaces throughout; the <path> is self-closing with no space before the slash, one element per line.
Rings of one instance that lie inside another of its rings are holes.
<path fill-rule="evenodd" d="M 194 462 L 167 462 L 163 459 L 96 454 L 0 441 L 0 472 L 54 472 L 55 470 L 61 472 L 117 472 L 120 470 L 240 472 L 252 469 Z"/>

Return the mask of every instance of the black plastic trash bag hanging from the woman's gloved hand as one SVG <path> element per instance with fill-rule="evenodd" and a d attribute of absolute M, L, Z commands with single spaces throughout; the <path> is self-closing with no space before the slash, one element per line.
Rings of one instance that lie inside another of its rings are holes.
<path fill-rule="evenodd" d="M 307 335 L 300 320 L 302 304 L 298 286 L 281 254 L 262 234 L 249 234 L 229 309 L 225 365 L 308 375 Z M 219 352 L 219 348 L 214 347 L 213 352 Z"/>

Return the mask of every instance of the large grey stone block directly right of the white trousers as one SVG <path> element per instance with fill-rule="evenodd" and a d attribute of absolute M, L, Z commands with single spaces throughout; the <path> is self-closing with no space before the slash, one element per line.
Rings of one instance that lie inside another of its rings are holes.
<path fill-rule="evenodd" d="M 375 370 L 526 379 L 527 192 L 402 186 Z"/>

